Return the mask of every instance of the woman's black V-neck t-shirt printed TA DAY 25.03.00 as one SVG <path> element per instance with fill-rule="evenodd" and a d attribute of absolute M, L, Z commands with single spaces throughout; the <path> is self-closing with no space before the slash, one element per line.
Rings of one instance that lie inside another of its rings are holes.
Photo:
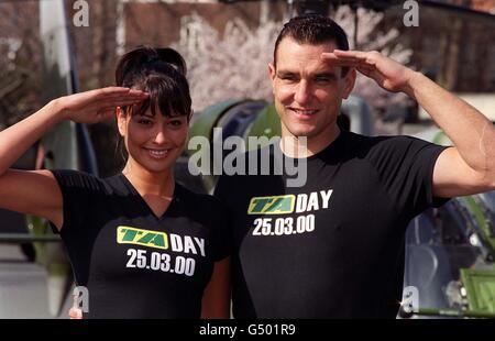
<path fill-rule="evenodd" d="M 198 318 L 213 263 L 230 253 L 218 199 L 179 184 L 156 217 L 122 174 L 100 179 L 53 172 L 62 189 L 66 245 L 85 318 Z"/>

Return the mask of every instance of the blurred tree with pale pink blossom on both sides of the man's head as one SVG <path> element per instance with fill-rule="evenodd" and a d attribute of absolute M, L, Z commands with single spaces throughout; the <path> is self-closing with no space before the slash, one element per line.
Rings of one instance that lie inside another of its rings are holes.
<path fill-rule="evenodd" d="M 383 13 L 358 10 L 359 48 L 376 50 L 399 63 L 407 64 L 410 50 L 396 42 L 397 30 L 376 31 Z M 354 36 L 355 12 L 340 7 L 333 13 L 350 37 Z M 283 23 L 266 20 L 255 29 L 249 29 L 234 19 L 220 35 L 204 18 L 194 13 L 183 16 L 180 40 L 173 44 L 188 63 L 193 103 L 196 110 L 228 98 L 253 98 L 272 101 L 272 87 L 267 64 L 273 59 L 273 47 Z M 353 40 L 350 38 L 351 48 Z M 382 90 L 373 80 L 360 75 L 354 94 L 363 97 L 376 112 L 402 103 L 406 97 Z"/>

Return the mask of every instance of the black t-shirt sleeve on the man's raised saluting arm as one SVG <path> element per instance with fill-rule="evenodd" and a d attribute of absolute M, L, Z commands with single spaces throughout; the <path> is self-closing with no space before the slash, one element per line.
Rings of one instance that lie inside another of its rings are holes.
<path fill-rule="evenodd" d="M 415 217 L 449 198 L 433 196 L 433 168 L 447 148 L 411 136 L 387 138 L 371 151 L 369 160 L 400 212 Z"/>

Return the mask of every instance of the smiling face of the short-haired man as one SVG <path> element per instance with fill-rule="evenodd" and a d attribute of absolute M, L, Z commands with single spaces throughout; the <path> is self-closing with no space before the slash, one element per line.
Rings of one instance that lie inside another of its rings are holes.
<path fill-rule="evenodd" d="M 307 136 L 308 143 L 332 139 L 342 98 L 349 97 L 355 80 L 355 70 L 342 77 L 341 67 L 320 58 L 336 47 L 331 42 L 301 45 L 290 37 L 279 43 L 276 68 L 268 68 L 283 136 Z"/>

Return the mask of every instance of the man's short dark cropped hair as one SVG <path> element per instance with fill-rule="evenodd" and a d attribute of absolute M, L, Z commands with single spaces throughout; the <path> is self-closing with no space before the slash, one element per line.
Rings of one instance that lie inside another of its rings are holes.
<path fill-rule="evenodd" d="M 305 14 L 290 19 L 275 41 L 273 51 L 273 65 L 277 63 L 278 44 L 284 37 L 290 37 L 299 44 L 321 45 L 336 43 L 339 50 L 349 50 L 348 35 L 344 30 L 330 18 L 320 14 Z M 349 67 L 342 68 L 342 75 L 348 73 Z"/>

